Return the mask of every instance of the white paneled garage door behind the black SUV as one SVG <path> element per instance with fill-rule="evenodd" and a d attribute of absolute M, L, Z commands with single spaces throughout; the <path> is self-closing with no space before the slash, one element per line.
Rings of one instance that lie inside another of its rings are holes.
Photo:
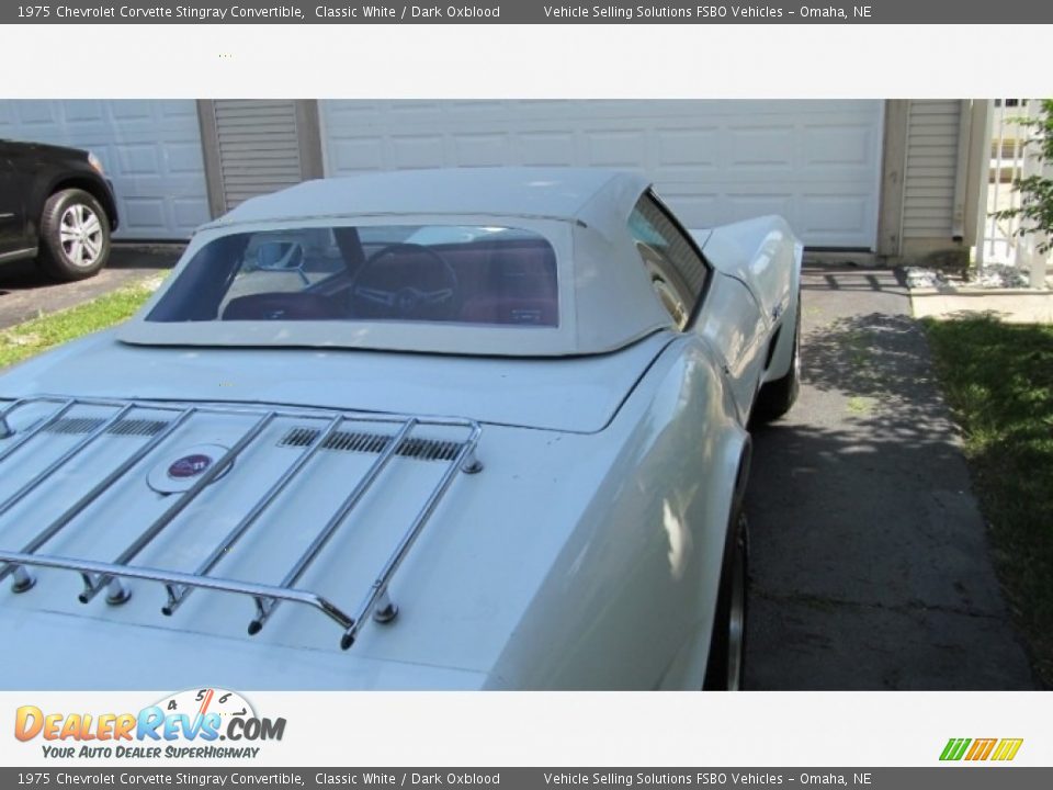
<path fill-rule="evenodd" d="M 94 151 L 117 198 L 117 238 L 184 239 L 208 219 L 193 101 L 2 101 L 0 137 Z"/>

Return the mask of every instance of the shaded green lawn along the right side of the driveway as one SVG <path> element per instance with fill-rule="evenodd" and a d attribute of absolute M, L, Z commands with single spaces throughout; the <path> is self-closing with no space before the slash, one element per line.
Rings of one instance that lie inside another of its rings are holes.
<path fill-rule="evenodd" d="M 1010 606 L 1053 687 L 1053 327 L 925 320 Z"/>

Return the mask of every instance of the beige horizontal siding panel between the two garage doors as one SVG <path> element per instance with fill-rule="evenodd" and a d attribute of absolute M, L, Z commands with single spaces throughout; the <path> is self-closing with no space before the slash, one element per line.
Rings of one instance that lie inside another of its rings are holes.
<path fill-rule="evenodd" d="M 219 99 L 213 106 L 226 210 L 299 183 L 295 102 Z"/>

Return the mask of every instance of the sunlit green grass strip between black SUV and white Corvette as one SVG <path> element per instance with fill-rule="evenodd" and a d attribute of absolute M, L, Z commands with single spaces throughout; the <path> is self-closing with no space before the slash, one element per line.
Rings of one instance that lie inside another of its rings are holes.
<path fill-rule="evenodd" d="M 0 331 L 0 368 L 126 320 L 149 298 L 154 286 L 156 283 L 128 285 L 77 307 Z"/>

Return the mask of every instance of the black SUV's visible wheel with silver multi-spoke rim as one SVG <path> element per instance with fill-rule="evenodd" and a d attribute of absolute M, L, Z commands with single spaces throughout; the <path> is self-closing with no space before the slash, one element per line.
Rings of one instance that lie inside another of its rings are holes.
<path fill-rule="evenodd" d="M 110 217 L 99 201 L 78 189 L 47 199 L 41 215 L 41 269 L 55 280 L 84 280 L 109 258 Z"/>

